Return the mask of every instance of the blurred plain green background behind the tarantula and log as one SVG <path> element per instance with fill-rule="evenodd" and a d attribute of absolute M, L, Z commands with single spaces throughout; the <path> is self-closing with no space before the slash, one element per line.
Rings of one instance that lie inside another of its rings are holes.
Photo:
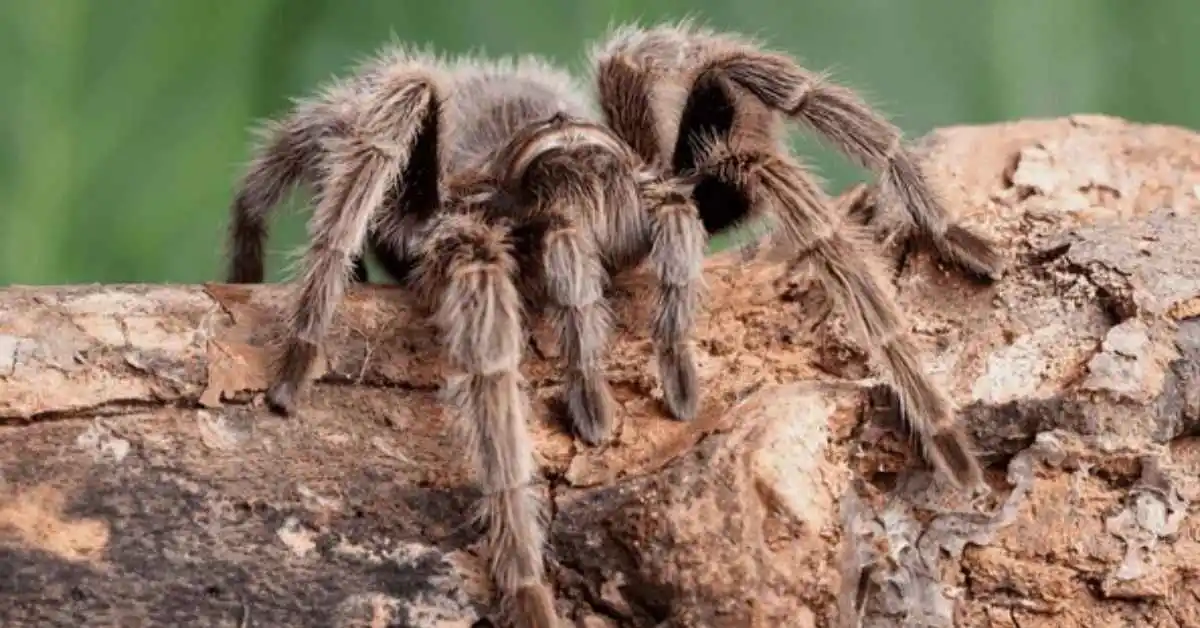
<path fill-rule="evenodd" d="M 2 0 L 0 283 L 218 280 L 247 127 L 394 36 L 578 68 L 610 24 L 684 14 L 832 68 L 910 137 L 1082 112 L 1200 126 L 1198 0 Z M 868 177 L 797 148 L 830 191 Z"/>

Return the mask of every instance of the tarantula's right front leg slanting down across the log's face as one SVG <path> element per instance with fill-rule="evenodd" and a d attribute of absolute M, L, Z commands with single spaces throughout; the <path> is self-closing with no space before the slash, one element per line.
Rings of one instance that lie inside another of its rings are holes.
<path fill-rule="evenodd" d="M 982 482 L 972 442 L 955 420 L 949 397 L 925 375 L 883 263 L 871 252 L 865 233 L 834 215 L 814 177 L 787 155 L 712 142 L 698 169 L 742 190 L 755 210 L 774 209 L 782 235 L 809 257 L 851 329 L 889 377 L 926 460 L 959 486 Z"/>

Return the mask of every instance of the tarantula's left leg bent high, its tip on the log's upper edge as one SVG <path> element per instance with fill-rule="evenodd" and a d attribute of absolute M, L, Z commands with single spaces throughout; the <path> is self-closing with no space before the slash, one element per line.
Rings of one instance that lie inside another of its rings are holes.
<path fill-rule="evenodd" d="M 362 253 L 372 219 L 409 163 L 421 134 L 436 132 L 434 79 L 422 66 L 396 64 L 371 89 L 352 100 L 353 115 L 337 134 L 323 138 L 317 208 L 308 221 L 310 244 L 268 406 L 295 409 L 295 395 L 317 359 L 355 258 Z"/>

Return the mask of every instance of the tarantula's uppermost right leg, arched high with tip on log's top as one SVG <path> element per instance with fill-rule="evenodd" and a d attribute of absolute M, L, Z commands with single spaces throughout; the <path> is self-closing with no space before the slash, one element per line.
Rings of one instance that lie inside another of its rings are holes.
<path fill-rule="evenodd" d="M 923 237 L 941 259 L 974 279 L 989 281 L 1002 274 L 1003 259 L 995 245 L 947 213 L 917 160 L 904 146 L 900 130 L 852 90 L 800 67 L 791 56 L 683 20 L 648 29 L 620 28 L 593 58 L 610 125 L 638 146 L 643 159 L 652 146 L 674 142 L 678 157 L 679 142 L 691 142 L 709 131 L 727 134 L 738 110 L 746 104 L 703 94 L 720 90 L 715 77 L 727 78 L 762 104 L 805 124 L 859 165 L 882 173 L 881 217 L 896 232 L 894 237 Z M 680 83 L 688 85 L 686 102 L 677 102 L 674 88 Z M 650 86 L 653 97 L 646 96 Z M 703 106 L 694 107 L 697 103 Z M 677 120 L 674 114 L 659 112 L 682 114 Z M 655 125 L 655 119 L 678 124 L 665 128 Z M 652 130 L 660 142 L 642 138 Z M 668 152 L 659 148 L 655 155 Z M 685 165 L 677 159 L 674 168 L 684 172 Z"/>

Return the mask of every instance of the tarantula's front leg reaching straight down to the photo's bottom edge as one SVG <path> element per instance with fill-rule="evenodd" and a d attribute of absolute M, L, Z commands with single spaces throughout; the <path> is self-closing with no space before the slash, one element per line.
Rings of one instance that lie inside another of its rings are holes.
<path fill-rule="evenodd" d="M 432 305 L 451 372 L 445 399 L 457 411 L 482 489 L 492 578 L 520 626 L 553 627 L 542 584 L 542 508 L 534 479 L 529 401 L 520 371 L 517 263 L 506 228 L 482 213 L 448 209 L 431 220 L 415 274 Z"/>

